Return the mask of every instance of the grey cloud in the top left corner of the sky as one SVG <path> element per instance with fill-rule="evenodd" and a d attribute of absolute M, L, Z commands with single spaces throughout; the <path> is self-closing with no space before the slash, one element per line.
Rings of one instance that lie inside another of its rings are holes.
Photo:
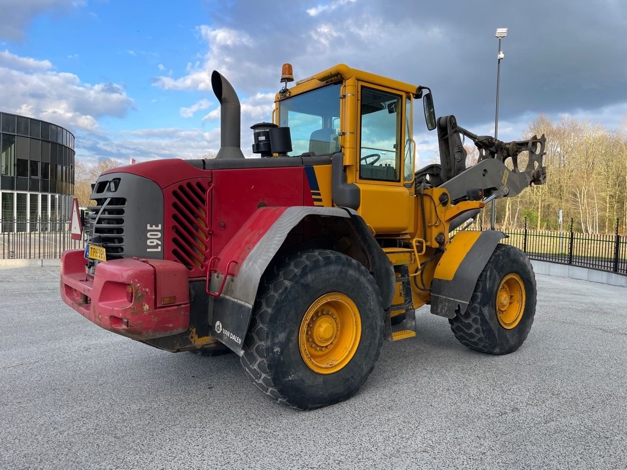
<path fill-rule="evenodd" d="M 24 29 L 42 13 L 61 13 L 85 4 L 82 0 L 20 0 L 0 3 L 0 37 L 21 41 Z"/>

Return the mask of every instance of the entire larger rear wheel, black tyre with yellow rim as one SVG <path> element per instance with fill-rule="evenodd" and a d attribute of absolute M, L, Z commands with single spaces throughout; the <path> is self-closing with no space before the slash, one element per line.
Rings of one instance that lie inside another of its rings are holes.
<path fill-rule="evenodd" d="M 297 251 L 261 279 L 241 363 L 277 402 L 335 404 L 372 372 L 384 320 L 381 292 L 361 264 L 331 250 Z"/>

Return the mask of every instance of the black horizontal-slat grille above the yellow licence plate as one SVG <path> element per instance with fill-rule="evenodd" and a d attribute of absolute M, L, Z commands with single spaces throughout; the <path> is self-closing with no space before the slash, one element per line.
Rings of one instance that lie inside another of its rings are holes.
<path fill-rule="evenodd" d="M 100 237 L 102 246 L 107 252 L 107 259 L 124 257 L 124 197 L 107 197 L 95 199 L 97 205 L 88 209 L 90 240 Z"/>

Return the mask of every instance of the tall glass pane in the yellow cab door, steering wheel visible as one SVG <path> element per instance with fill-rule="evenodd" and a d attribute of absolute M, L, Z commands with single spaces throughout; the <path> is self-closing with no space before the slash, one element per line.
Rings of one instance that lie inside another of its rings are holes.
<path fill-rule="evenodd" d="M 401 180 L 403 97 L 362 88 L 359 175 L 362 179 Z"/>

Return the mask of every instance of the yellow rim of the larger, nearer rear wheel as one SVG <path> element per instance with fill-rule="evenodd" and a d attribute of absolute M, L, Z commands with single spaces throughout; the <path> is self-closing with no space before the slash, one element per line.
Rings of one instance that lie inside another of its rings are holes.
<path fill-rule="evenodd" d="M 359 309 L 349 296 L 325 294 L 305 312 L 298 332 L 300 355 L 311 370 L 334 373 L 357 351 L 361 338 Z"/>

